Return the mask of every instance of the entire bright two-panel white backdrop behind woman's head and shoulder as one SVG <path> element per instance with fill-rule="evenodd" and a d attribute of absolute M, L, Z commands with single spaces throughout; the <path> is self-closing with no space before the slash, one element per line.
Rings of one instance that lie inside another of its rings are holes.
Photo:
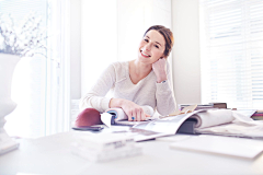
<path fill-rule="evenodd" d="M 171 27 L 171 0 L 82 0 L 81 95 L 110 62 L 136 59 L 153 24 Z"/>

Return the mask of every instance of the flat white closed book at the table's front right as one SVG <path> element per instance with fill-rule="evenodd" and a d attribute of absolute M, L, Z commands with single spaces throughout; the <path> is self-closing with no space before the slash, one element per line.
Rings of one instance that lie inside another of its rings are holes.
<path fill-rule="evenodd" d="M 263 151 L 263 142 L 244 138 L 201 135 L 191 136 L 186 139 L 173 142 L 170 144 L 170 148 L 254 159 Z"/>

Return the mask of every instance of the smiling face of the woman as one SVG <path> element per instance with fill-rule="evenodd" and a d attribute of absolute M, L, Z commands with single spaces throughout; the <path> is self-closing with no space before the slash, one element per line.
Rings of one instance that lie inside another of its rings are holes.
<path fill-rule="evenodd" d="M 151 30 L 140 42 L 138 58 L 145 63 L 155 63 L 163 57 L 164 49 L 165 40 L 163 36 L 159 32 Z"/>

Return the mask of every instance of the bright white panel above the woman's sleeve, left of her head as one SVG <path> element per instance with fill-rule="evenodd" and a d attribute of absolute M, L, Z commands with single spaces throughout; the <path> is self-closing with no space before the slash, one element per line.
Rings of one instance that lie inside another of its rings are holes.
<path fill-rule="evenodd" d="M 81 0 L 81 96 L 117 60 L 116 0 Z"/>

